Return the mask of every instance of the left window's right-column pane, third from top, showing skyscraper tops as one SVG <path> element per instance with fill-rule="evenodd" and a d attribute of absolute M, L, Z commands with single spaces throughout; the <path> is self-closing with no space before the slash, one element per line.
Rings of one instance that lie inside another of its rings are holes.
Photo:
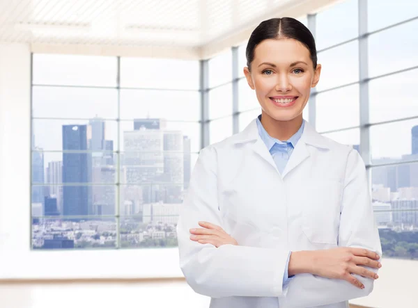
<path fill-rule="evenodd" d="M 122 151 L 160 152 L 165 149 L 181 152 L 183 147 L 191 152 L 201 149 L 199 122 L 169 122 L 164 119 L 121 121 Z"/>

